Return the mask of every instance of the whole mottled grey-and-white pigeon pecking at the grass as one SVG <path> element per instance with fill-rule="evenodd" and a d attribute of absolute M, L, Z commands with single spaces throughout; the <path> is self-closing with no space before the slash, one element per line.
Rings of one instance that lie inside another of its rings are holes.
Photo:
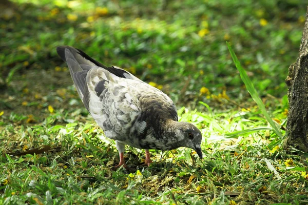
<path fill-rule="evenodd" d="M 125 145 L 145 150 L 145 166 L 152 162 L 149 149 L 172 150 L 187 147 L 202 159 L 200 130 L 189 122 L 178 121 L 173 101 L 131 73 L 116 66 L 107 67 L 83 51 L 57 47 L 67 63 L 73 83 L 84 106 L 104 131 L 115 140 L 120 162 Z"/>

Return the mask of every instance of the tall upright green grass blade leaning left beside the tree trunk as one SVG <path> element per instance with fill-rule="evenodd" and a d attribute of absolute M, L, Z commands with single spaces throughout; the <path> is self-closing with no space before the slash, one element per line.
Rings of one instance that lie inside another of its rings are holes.
<path fill-rule="evenodd" d="M 238 71 L 240 72 L 241 78 L 247 88 L 247 91 L 249 92 L 249 94 L 251 94 L 252 98 L 255 100 L 255 102 L 257 103 L 257 105 L 259 106 L 259 109 L 262 111 L 265 119 L 268 121 L 268 123 L 273 127 L 274 132 L 280 137 L 282 138 L 282 134 L 280 132 L 280 129 L 276 126 L 275 122 L 272 120 L 272 118 L 269 116 L 269 114 L 267 113 L 265 106 L 261 100 L 261 98 L 259 97 L 257 90 L 255 89 L 251 79 L 248 77 L 246 71 L 243 69 L 243 67 L 241 66 L 240 61 L 238 60 L 237 56 L 235 55 L 233 49 L 231 48 L 231 46 L 229 45 L 228 42 L 227 46 L 229 49 L 229 52 L 232 56 L 232 59 L 234 61 L 234 64 L 236 66 L 236 68 L 238 69 Z"/>

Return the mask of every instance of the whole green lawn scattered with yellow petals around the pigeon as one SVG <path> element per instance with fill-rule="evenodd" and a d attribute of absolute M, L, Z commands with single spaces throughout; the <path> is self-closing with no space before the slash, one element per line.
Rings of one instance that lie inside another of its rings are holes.
<path fill-rule="evenodd" d="M 278 128 L 306 5 L 14 2 L 12 18 L 0 18 L 0 204 L 308 203 L 307 153 L 286 152 Z M 175 101 L 180 120 L 201 130 L 204 158 L 151 150 L 154 162 L 143 168 L 144 151 L 127 146 L 136 171 L 112 171 L 115 144 L 83 107 L 59 45 L 152 81 Z M 12 155 L 44 146 L 45 153 Z"/>

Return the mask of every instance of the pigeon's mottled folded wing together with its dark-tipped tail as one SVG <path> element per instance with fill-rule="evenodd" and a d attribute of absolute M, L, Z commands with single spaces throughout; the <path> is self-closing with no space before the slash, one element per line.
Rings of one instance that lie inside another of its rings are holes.
<path fill-rule="evenodd" d="M 57 53 L 66 61 L 80 98 L 105 135 L 125 141 L 123 136 L 139 114 L 130 87 L 147 84 L 123 69 L 100 64 L 78 49 L 62 46 Z"/>

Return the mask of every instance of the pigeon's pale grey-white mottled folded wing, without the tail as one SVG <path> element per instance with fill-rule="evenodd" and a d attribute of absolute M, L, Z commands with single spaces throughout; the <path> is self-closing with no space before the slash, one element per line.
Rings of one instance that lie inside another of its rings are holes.
<path fill-rule="evenodd" d="M 136 88 L 147 85 L 120 78 L 102 68 L 87 74 L 84 104 L 107 137 L 127 141 L 141 108 Z"/>

